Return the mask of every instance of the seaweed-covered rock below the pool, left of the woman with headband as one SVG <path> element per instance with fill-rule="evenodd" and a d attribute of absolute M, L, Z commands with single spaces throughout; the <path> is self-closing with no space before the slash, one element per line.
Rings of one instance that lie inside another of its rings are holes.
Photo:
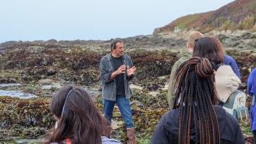
<path fill-rule="evenodd" d="M 54 124 L 47 99 L 0 97 L 0 110 L 0 140 L 39 137 Z"/>

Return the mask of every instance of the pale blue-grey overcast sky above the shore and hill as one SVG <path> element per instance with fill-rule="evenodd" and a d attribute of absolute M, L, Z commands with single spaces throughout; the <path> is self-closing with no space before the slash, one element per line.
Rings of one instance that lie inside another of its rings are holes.
<path fill-rule="evenodd" d="M 4 41 L 111 39 L 147 35 L 188 14 L 233 0 L 1 0 Z"/>

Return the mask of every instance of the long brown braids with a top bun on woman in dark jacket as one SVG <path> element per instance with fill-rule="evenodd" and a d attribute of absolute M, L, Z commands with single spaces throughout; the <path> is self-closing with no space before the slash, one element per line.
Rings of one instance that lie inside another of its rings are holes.
<path fill-rule="evenodd" d="M 178 143 L 190 143 L 195 127 L 196 143 L 220 143 L 220 129 L 215 104 L 214 63 L 192 57 L 177 69 L 174 87 L 175 108 L 180 108 Z M 173 88 L 174 89 L 174 88 Z"/>

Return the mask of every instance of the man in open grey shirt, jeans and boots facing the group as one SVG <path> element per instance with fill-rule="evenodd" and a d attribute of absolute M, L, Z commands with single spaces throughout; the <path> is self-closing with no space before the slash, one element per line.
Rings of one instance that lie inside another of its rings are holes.
<path fill-rule="evenodd" d="M 103 114 L 111 122 L 113 108 L 119 107 L 122 119 L 127 128 L 129 143 L 135 142 L 135 129 L 133 128 L 132 111 L 129 98 L 132 97 L 128 82 L 134 77 L 136 67 L 131 57 L 124 54 L 124 42 L 116 39 L 111 43 L 111 53 L 100 60 L 100 80 L 103 90 Z M 108 126 L 108 136 L 111 135 L 111 126 Z"/>

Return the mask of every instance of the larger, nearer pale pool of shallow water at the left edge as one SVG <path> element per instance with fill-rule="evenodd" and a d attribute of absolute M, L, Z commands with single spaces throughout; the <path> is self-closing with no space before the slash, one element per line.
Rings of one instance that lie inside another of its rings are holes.
<path fill-rule="evenodd" d="M 18 97 L 20 99 L 29 99 L 37 97 L 36 95 L 30 93 L 24 93 L 20 91 L 12 91 L 12 90 L 0 90 L 1 96 L 9 96 L 9 97 Z"/>

